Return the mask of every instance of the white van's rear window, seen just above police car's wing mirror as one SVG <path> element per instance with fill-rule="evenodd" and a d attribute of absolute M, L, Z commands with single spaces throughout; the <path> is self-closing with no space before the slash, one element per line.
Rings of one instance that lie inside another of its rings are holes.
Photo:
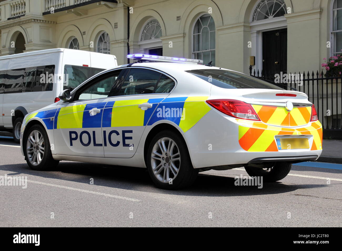
<path fill-rule="evenodd" d="M 105 69 L 87 66 L 65 65 L 63 89 L 70 89 L 70 87 L 76 88 L 84 81 L 103 70 Z"/>

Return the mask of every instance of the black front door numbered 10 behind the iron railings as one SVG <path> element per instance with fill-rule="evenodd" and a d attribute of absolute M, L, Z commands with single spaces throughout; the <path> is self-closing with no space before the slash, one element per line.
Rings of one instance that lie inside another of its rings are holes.
<path fill-rule="evenodd" d="M 274 74 L 287 73 L 287 29 L 262 33 L 262 69 L 271 80 Z"/>

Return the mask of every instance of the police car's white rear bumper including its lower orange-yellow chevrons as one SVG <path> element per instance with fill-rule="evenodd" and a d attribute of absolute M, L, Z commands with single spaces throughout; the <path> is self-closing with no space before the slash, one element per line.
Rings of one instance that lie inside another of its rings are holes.
<path fill-rule="evenodd" d="M 315 160 L 322 152 L 322 129 L 318 121 L 305 127 L 281 128 L 236 120 L 215 109 L 183 136 L 194 168 L 273 161 L 298 163 Z M 279 137 L 307 138 L 309 149 L 278 149 Z"/>

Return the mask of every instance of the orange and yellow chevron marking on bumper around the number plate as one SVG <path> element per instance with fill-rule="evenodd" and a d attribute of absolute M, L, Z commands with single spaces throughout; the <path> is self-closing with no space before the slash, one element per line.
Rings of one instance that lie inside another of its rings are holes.
<path fill-rule="evenodd" d="M 239 144 L 249 152 L 278 152 L 276 135 L 312 135 L 310 150 L 322 149 L 322 125 L 319 121 L 303 128 L 282 128 L 265 125 L 261 122 L 236 119 L 239 125 Z"/>

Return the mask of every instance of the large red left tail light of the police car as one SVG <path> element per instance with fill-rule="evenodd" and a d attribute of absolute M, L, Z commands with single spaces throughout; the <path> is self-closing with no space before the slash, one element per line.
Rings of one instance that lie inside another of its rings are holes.
<path fill-rule="evenodd" d="M 253 107 L 245 102 L 234 99 L 211 99 L 207 100 L 207 103 L 229 116 L 260 121 Z"/>

